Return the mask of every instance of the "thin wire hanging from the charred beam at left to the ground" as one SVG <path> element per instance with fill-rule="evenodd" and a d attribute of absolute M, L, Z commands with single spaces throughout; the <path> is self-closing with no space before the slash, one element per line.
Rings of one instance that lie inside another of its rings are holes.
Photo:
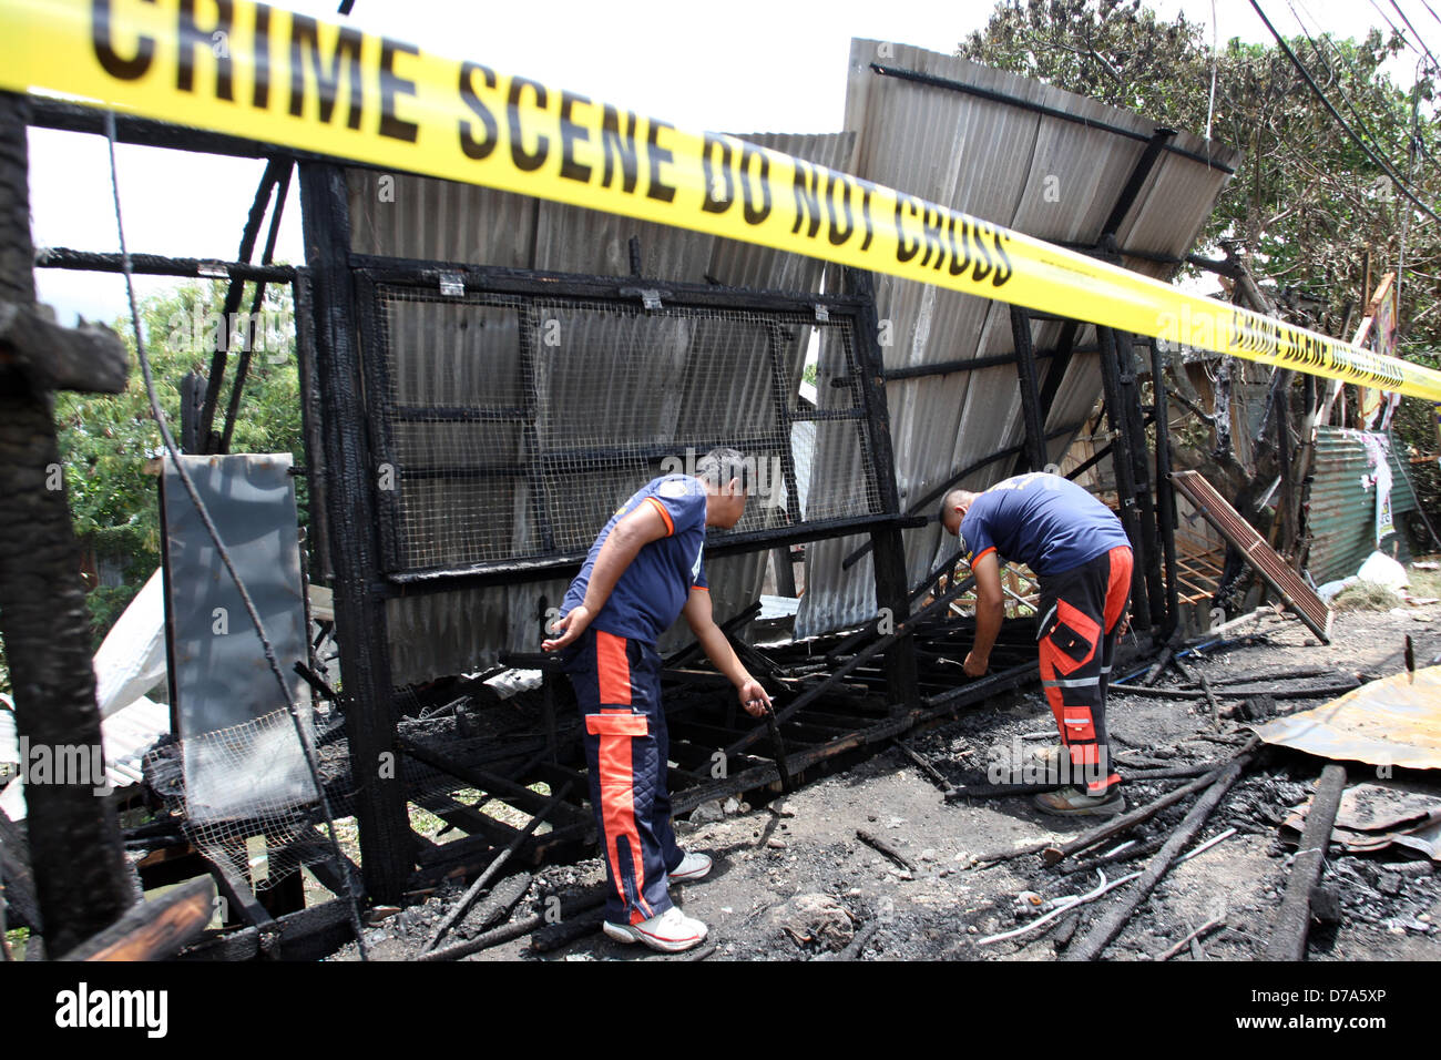
<path fill-rule="evenodd" d="M 176 446 L 174 436 L 170 433 L 170 424 L 166 421 L 164 410 L 160 407 L 160 397 L 156 392 L 156 381 L 150 371 L 150 358 L 146 353 L 146 343 L 140 329 L 140 307 L 135 303 L 134 274 L 131 270 L 130 249 L 125 244 L 125 219 L 120 206 L 120 170 L 115 164 L 115 112 L 110 110 L 105 111 L 105 138 L 110 146 L 110 187 L 115 203 L 115 228 L 120 234 L 121 271 L 125 274 L 125 293 L 130 299 L 130 323 L 135 332 L 135 356 L 140 361 L 140 374 L 146 382 L 146 394 L 150 398 L 150 412 L 160 428 L 160 440 L 174 464 L 176 474 L 179 476 L 182 486 L 184 486 L 184 492 L 190 496 L 190 503 L 195 505 L 195 511 L 200 516 L 200 522 L 205 525 L 206 534 L 210 536 L 210 542 L 215 545 L 215 551 L 220 557 L 220 562 L 225 564 L 225 570 L 229 573 L 231 580 L 235 583 L 235 588 L 239 593 L 241 601 L 245 604 L 245 613 L 249 616 L 251 624 L 255 627 L 255 636 L 259 639 L 261 648 L 265 652 L 265 662 L 269 663 L 271 673 L 275 675 L 275 681 L 280 684 L 281 695 L 285 699 L 285 708 L 295 727 L 295 737 L 300 740 L 301 753 L 305 756 L 305 766 L 310 769 L 310 779 L 316 785 L 316 793 L 320 798 L 320 806 L 326 815 L 326 828 L 330 836 L 330 851 L 336 862 L 336 871 L 346 881 L 346 898 L 349 900 L 347 904 L 350 907 L 352 927 L 356 933 L 356 948 L 360 959 L 366 960 L 365 929 L 360 924 L 360 906 L 356 900 L 354 881 L 350 877 L 350 864 L 342 855 L 340 844 L 336 839 L 336 819 L 334 813 L 330 811 L 330 799 L 326 796 L 326 787 L 320 780 L 320 767 L 316 763 L 316 750 L 305 736 L 305 727 L 300 720 L 300 710 L 295 707 L 295 701 L 290 694 L 290 686 L 285 684 L 285 675 L 281 672 L 280 662 L 275 659 L 275 649 L 271 646 L 269 637 L 265 635 L 265 624 L 261 622 L 259 611 L 255 610 L 255 601 L 245 588 L 245 581 L 241 578 L 239 571 L 235 570 L 235 562 L 231 560 L 229 549 L 226 549 L 225 542 L 220 541 L 220 532 L 216 529 L 209 509 L 200 499 L 200 493 L 196 490 L 195 482 L 190 479 L 190 473 L 180 461 L 180 450 Z"/>

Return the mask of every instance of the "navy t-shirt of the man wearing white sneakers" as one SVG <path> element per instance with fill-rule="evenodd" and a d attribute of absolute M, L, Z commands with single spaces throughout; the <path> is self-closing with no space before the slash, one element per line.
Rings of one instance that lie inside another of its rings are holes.
<path fill-rule="evenodd" d="M 641 505 L 651 505 L 666 521 L 669 534 L 648 542 L 621 574 L 610 600 L 591 626 L 605 633 L 654 643 L 686 606 L 692 587 L 706 588 L 706 489 L 689 474 L 651 479 L 621 505 L 595 538 L 585 565 L 565 594 L 562 610 L 569 613 L 585 600 L 591 570 L 601 545 L 615 524 Z"/>

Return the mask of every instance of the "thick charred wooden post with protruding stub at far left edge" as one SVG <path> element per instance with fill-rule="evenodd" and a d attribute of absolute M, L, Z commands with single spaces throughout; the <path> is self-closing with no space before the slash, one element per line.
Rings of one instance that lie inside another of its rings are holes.
<path fill-rule="evenodd" d="M 10 320 L 0 343 L 0 623 L 20 746 L 85 764 L 26 786 L 45 946 L 62 956 L 124 914 L 131 885 L 120 822 L 99 798 L 104 773 L 92 774 L 102 764 L 95 671 L 50 388 L 118 392 L 128 358 L 108 332 L 66 336 L 35 316 L 27 114 L 23 98 L 0 94 L 0 303 Z"/>

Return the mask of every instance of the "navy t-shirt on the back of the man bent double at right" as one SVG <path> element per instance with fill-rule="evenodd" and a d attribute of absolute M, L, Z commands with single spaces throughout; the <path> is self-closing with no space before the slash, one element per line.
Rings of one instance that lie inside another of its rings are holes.
<path fill-rule="evenodd" d="M 997 482 L 961 519 L 961 548 L 973 567 L 994 549 L 1042 577 L 1130 544 L 1110 508 L 1069 479 L 1042 472 Z"/>

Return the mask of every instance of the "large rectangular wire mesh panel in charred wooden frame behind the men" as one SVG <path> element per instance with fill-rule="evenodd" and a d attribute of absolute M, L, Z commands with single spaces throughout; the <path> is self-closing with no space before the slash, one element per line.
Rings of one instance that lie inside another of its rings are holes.
<path fill-rule="evenodd" d="M 640 486 L 693 473 L 716 446 L 755 466 L 732 534 L 883 512 L 849 316 L 362 288 L 392 574 L 574 558 Z M 810 350 L 818 407 L 798 397 Z M 806 420 L 818 421 L 817 446 L 850 454 L 855 476 L 810 492 L 803 512 L 793 424 Z"/>

